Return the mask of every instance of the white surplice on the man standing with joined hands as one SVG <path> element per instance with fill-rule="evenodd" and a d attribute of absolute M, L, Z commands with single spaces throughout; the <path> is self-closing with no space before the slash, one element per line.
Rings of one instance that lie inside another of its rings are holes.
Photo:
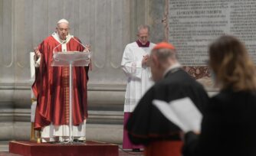
<path fill-rule="evenodd" d="M 153 85 L 149 67 L 142 65 L 143 56 L 150 54 L 156 44 L 139 47 L 136 42 L 127 44 L 123 52 L 121 67 L 127 76 L 124 112 L 133 112 L 139 99 Z"/>

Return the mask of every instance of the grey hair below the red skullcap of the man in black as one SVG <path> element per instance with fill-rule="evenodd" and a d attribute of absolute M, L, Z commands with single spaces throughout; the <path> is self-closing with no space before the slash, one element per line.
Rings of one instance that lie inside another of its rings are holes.
<path fill-rule="evenodd" d="M 172 58 L 176 60 L 176 50 L 171 49 L 159 49 L 159 50 L 153 50 L 153 53 L 156 57 L 161 61 L 166 61 L 168 58 Z"/>

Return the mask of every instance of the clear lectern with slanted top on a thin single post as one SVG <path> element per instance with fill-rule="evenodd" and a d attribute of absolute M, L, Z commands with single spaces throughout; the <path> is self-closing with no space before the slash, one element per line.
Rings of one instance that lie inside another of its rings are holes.
<path fill-rule="evenodd" d="M 54 52 L 52 67 L 69 67 L 69 141 L 73 143 L 73 120 L 72 120 L 72 99 L 73 99 L 73 73 L 72 67 L 84 67 L 90 63 L 90 52 L 67 51 Z"/>

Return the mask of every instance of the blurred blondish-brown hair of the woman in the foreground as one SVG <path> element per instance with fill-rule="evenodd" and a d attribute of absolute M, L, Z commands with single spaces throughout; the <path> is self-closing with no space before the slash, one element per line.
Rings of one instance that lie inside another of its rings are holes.
<path fill-rule="evenodd" d="M 248 56 L 245 45 L 237 38 L 228 35 L 219 37 L 210 45 L 208 53 L 209 66 L 222 89 L 256 90 L 254 63 Z"/>

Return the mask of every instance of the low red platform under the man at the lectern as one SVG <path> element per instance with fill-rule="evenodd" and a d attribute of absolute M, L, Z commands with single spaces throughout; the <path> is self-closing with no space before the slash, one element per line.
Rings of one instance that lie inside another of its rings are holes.
<path fill-rule="evenodd" d="M 10 141 L 9 152 L 25 156 L 118 156 L 118 145 L 98 141 L 86 141 L 80 145 Z"/>

